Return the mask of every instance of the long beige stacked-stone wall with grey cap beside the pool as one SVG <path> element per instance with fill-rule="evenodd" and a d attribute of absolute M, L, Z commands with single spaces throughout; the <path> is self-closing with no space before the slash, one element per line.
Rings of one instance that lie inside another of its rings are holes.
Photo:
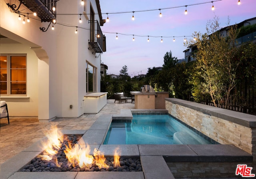
<path fill-rule="evenodd" d="M 256 161 L 256 116 L 166 98 L 168 113 L 220 144 L 232 144 L 253 155 Z"/>

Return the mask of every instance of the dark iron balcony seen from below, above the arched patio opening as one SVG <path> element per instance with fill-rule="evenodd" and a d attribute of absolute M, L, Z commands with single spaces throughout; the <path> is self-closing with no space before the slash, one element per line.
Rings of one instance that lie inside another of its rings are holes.
<path fill-rule="evenodd" d="M 52 22 L 56 19 L 56 10 L 53 12 L 52 7 L 56 7 L 56 0 L 19 0 L 32 12 L 41 19 L 41 22 Z"/>

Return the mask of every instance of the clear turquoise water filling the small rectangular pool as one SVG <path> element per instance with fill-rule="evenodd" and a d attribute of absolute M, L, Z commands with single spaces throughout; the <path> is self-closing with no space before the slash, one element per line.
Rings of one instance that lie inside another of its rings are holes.
<path fill-rule="evenodd" d="M 133 115 L 112 122 L 104 144 L 211 144 L 170 115 Z"/>

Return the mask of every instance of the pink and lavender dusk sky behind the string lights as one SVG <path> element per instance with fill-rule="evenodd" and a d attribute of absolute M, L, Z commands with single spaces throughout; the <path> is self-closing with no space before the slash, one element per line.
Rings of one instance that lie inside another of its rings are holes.
<path fill-rule="evenodd" d="M 203 2 L 210 3 L 192 5 Z M 108 66 L 107 74 L 119 75 L 124 65 L 128 67 L 131 77 L 146 74 L 148 68 L 162 66 L 164 55 L 170 51 L 172 56 L 184 58 L 184 36 L 190 39 L 192 37 L 189 36 L 195 31 L 205 33 L 208 20 L 213 20 L 214 16 L 220 19 L 220 27 L 228 25 L 228 18 L 230 25 L 233 25 L 256 17 L 256 0 L 240 0 L 240 5 L 237 2 L 220 0 L 212 4 L 206 0 L 100 0 L 103 19 L 107 19 L 106 13 L 109 18 L 109 22 L 101 27 L 106 36 L 106 52 L 102 54 L 101 60 Z M 178 6 L 182 7 L 176 8 Z M 159 17 L 159 9 L 162 17 Z M 184 14 L 186 9 L 187 15 Z M 142 10 L 150 11 L 136 12 Z M 129 13 L 112 14 L 116 12 Z M 156 37 L 149 37 L 148 42 L 148 36 Z"/>

